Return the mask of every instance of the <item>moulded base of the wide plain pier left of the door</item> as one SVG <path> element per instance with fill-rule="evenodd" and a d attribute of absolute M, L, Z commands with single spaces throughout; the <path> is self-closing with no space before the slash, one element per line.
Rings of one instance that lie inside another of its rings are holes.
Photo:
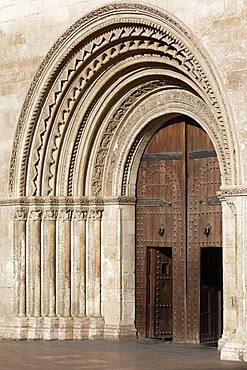
<path fill-rule="evenodd" d="M 104 327 L 104 339 L 129 340 L 136 339 L 136 328 L 131 324 L 110 325 Z"/>

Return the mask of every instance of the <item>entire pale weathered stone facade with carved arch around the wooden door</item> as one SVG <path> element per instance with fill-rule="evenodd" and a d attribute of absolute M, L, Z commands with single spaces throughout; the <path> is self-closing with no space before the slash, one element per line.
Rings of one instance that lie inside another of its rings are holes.
<path fill-rule="evenodd" d="M 223 359 L 246 360 L 246 2 L 117 1 L 53 46 L 98 6 L 105 2 L 0 4 L 0 335 L 135 336 L 138 158 L 148 123 L 179 112 L 198 120 L 217 149 L 220 347 Z M 124 18 L 130 27 L 119 26 Z M 150 69 L 135 70 L 140 61 L 156 66 L 155 81 Z"/>

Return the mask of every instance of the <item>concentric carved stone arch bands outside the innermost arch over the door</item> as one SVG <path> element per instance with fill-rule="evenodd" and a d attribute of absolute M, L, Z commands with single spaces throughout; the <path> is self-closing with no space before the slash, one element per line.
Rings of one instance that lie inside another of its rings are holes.
<path fill-rule="evenodd" d="M 137 105 L 174 89 L 207 107 L 222 183 L 237 184 L 237 146 L 208 56 L 171 16 L 140 4 L 113 4 L 76 22 L 37 71 L 16 130 L 10 194 L 105 195 L 115 135 Z M 127 155 L 120 165 L 125 178 Z"/>

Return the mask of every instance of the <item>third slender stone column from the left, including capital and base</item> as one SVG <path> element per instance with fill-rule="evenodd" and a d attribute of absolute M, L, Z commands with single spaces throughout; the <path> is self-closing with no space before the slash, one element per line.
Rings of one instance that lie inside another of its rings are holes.
<path fill-rule="evenodd" d="M 56 220 L 57 209 L 45 210 L 43 276 L 42 276 L 42 315 L 44 316 L 43 338 L 57 339 L 58 318 L 56 317 Z"/>

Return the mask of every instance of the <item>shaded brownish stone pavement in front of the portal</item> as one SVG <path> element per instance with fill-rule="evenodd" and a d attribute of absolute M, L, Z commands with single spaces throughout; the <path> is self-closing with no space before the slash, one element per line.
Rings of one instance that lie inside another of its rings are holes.
<path fill-rule="evenodd" d="M 155 340 L 9 341 L 0 346 L 4 370 L 238 370 L 246 363 L 220 361 L 215 348 Z"/>

